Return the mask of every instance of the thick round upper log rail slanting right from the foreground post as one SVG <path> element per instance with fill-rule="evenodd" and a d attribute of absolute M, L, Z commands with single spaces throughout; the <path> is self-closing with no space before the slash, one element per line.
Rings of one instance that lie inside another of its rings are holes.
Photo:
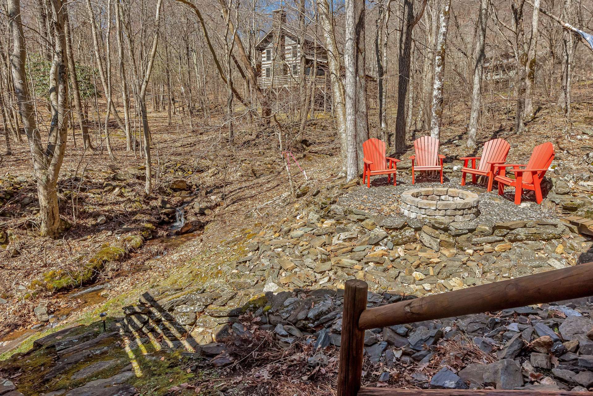
<path fill-rule="evenodd" d="M 361 330 L 593 295 L 593 262 L 401 301 L 361 313 Z"/>

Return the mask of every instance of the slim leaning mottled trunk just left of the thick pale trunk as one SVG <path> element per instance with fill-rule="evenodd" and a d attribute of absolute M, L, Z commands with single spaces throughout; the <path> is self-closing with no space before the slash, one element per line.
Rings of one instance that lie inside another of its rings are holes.
<path fill-rule="evenodd" d="M 317 2 L 319 20 L 323 29 L 323 38 L 327 48 L 327 64 L 330 74 L 332 109 L 336 118 L 336 129 L 340 140 L 340 154 L 342 154 L 342 173 L 346 175 L 347 138 L 346 138 L 346 107 L 345 93 L 340 74 L 340 55 L 336 45 L 336 34 L 331 20 L 330 4 L 328 0 Z"/>

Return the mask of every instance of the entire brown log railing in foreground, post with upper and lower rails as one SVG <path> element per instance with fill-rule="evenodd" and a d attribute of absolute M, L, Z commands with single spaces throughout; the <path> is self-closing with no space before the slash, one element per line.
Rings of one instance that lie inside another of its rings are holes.
<path fill-rule="evenodd" d="M 366 308 L 368 285 L 346 281 L 337 396 L 576 396 L 590 392 L 361 388 L 365 330 L 593 296 L 593 262 Z"/>

